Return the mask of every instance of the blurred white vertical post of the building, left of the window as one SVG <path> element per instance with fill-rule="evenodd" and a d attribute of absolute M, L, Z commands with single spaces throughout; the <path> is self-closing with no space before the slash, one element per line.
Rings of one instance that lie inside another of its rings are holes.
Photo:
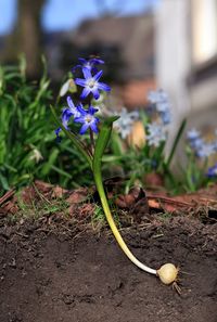
<path fill-rule="evenodd" d="M 168 92 L 173 104 L 173 125 L 169 144 L 190 111 L 189 89 L 186 82 L 190 69 L 189 0 L 162 0 L 156 10 L 156 80 Z"/>

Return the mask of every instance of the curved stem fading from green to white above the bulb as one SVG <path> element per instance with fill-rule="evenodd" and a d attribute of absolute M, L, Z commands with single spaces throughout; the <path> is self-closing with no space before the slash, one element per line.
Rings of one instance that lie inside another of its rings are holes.
<path fill-rule="evenodd" d="M 140 269 L 142 269 L 143 271 L 151 273 L 151 274 L 155 274 L 156 275 L 156 270 L 143 265 L 141 261 L 139 261 L 135 255 L 129 250 L 129 248 L 127 247 L 125 241 L 123 240 L 119 231 L 117 230 L 117 227 L 115 224 L 115 221 L 112 217 L 111 210 L 110 210 L 110 206 L 107 203 L 107 198 L 104 192 L 104 188 L 103 188 L 103 183 L 102 183 L 102 175 L 101 175 L 101 170 L 100 167 L 94 167 L 93 169 L 93 176 L 94 176 L 94 181 L 95 181 L 95 185 L 100 195 L 100 199 L 102 203 L 102 207 L 103 210 L 105 212 L 107 222 L 110 224 L 110 228 L 118 243 L 118 245 L 120 246 L 120 248 L 123 249 L 123 252 L 127 255 L 127 257 Z"/>

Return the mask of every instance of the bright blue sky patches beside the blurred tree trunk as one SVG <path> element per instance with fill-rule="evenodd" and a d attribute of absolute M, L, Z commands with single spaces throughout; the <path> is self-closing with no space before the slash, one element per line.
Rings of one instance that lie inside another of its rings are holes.
<path fill-rule="evenodd" d="M 35 1 L 35 0 L 29 0 Z M 161 0 L 47 0 L 42 26 L 48 31 L 75 28 L 85 18 L 99 17 L 105 9 L 119 15 L 139 14 L 157 5 Z M 101 3 L 99 7 L 98 4 Z M 0 35 L 9 34 L 16 18 L 16 0 L 0 0 Z"/>

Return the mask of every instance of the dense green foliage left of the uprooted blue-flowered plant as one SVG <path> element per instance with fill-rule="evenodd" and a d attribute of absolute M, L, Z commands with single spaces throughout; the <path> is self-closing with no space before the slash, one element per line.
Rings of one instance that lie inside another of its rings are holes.
<path fill-rule="evenodd" d="M 0 193 L 42 179 L 62 186 L 89 184 L 91 175 L 69 140 L 55 143 L 46 64 L 41 79 L 26 79 L 26 63 L 0 66 Z M 86 171 L 86 176 L 84 176 Z"/>

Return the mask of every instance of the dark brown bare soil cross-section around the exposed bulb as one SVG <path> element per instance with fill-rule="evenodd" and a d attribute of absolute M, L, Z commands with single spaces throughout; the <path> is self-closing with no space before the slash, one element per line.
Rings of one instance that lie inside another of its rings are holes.
<path fill-rule="evenodd" d="M 142 262 L 180 267 L 180 295 L 133 266 L 106 228 L 1 223 L 0 321 L 217 322 L 217 223 L 155 218 L 122 234 Z"/>

